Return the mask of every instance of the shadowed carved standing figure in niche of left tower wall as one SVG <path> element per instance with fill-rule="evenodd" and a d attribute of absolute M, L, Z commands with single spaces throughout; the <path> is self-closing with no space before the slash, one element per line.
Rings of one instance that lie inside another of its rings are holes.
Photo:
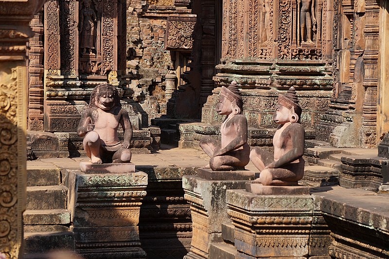
<path fill-rule="evenodd" d="M 95 49 L 95 22 L 97 21 L 96 13 L 91 8 L 91 0 L 83 1 L 84 8 L 80 12 L 80 48 L 82 55 L 92 53 Z"/>

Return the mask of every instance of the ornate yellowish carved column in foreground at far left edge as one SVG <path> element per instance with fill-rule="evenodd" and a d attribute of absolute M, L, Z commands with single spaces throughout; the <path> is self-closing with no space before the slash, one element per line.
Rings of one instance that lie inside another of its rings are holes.
<path fill-rule="evenodd" d="M 26 196 L 26 51 L 29 22 L 44 0 L 0 2 L 0 254 L 23 254 Z"/>

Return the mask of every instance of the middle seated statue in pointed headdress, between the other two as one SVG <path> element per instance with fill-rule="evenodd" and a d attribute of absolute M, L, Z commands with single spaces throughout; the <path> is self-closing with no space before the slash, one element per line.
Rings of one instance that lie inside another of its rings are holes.
<path fill-rule="evenodd" d="M 250 147 L 247 144 L 247 119 L 242 114 L 243 101 L 236 81 L 222 87 L 216 112 L 227 115 L 221 127 L 221 142 L 204 137 L 200 147 L 211 157 L 206 168 L 214 171 L 244 169 L 248 164 Z"/>

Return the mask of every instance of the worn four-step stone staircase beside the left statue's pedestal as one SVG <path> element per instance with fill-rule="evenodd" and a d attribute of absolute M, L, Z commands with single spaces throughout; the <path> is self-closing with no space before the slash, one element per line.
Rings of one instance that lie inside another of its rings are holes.
<path fill-rule="evenodd" d="M 53 165 L 27 167 L 27 200 L 24 222 L 24 258 L 41 259 L 42 253 L 73 251 L 68 188 Z"/>

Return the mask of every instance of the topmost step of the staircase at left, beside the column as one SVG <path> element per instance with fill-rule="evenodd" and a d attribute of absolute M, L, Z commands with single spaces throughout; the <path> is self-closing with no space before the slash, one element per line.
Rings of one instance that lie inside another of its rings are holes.
<path fill-rule="evenodd" d="M 60 185 L 59 168 L 27 168 L 27 186 Z"/>

